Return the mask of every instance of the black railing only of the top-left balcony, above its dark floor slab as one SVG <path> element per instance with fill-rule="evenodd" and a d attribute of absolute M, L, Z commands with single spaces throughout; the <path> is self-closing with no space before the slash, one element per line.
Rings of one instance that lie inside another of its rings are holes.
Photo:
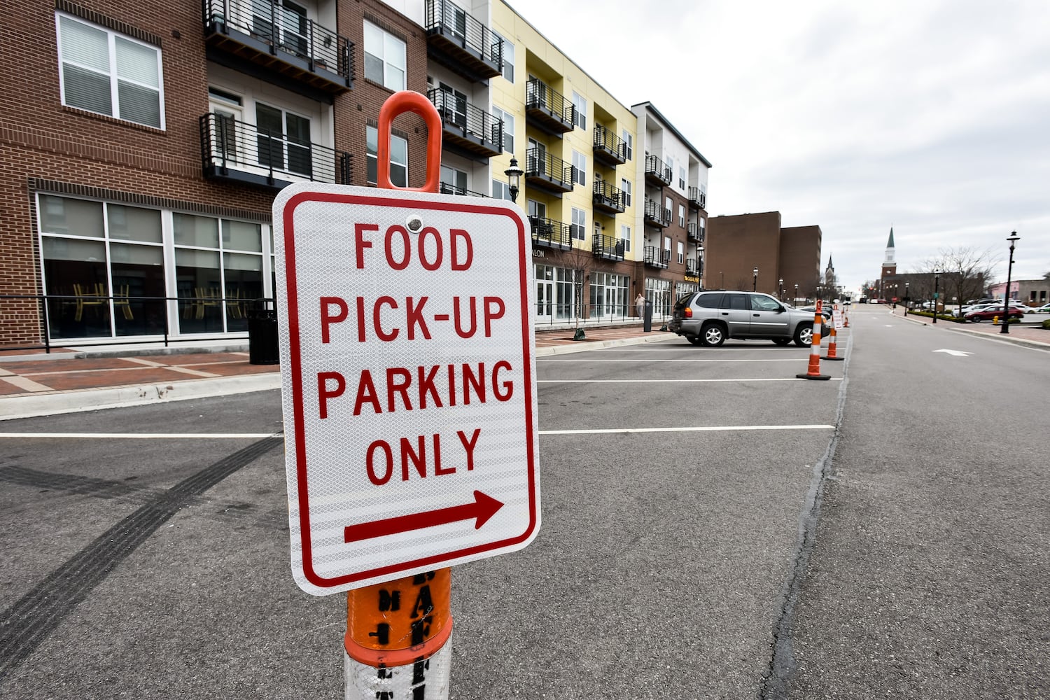
<path fill-rule="evenodd" d="M 317 68 L 354 80 L 354 44 L 346 37 L 269 0 L 204 0 L 204 21 L 223 34 L 230 29 L 306 59 Z"/>

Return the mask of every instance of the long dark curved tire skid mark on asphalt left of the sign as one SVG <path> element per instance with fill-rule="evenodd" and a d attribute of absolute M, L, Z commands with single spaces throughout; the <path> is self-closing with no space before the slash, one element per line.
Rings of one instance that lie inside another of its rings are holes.
<path fill-rule="evenodd" d="M 281 438 L 259 440 L 175 484 L 99 535 L 0 613 L 0 683 L 33 654 L 110 571 L 181 508 L 282 444 Z"/>

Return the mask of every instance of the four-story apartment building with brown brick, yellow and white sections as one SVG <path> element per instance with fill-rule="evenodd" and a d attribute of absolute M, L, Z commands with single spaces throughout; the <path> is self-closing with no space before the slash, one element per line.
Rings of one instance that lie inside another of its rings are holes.
<path fill-rule="evenodd" d="M 0 345 L 243 337 L 277 191 L 374 184 L 400 89 L 442 119 L 442 192 L 509 198 L 521 164 L 538 323 L 700 283 L 710 164 L 503 0 L 30 0 L 7 39 Z M 398 118 L 395 185 L 424 183 L 426 137 Z"/>

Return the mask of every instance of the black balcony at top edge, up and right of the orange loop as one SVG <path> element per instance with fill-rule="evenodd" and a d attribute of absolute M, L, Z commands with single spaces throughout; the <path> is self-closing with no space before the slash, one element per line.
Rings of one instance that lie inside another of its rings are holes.
<path fill-rule="evenodd" d="M 477 83 L 503 72 L 503 40 L 449 0 L 426 0 L 426 54 Z"/>

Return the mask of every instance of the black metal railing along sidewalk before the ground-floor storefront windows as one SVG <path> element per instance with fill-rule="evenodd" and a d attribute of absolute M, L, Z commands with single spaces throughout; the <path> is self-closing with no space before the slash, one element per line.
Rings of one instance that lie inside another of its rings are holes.
<path fill-rule="evenodd" d="M 185 296 L 128 294 L 3 294 L 0 316 L 35 318 L 20 336 L 10 326 L 0 336 L 5 351 L 43 349 L 76 344 L 133 345 L 192 342 L 202 335 L 248 338 L 249 320 L 274 299 L 243 296 L 236 289 L 198 288 Z"/>

